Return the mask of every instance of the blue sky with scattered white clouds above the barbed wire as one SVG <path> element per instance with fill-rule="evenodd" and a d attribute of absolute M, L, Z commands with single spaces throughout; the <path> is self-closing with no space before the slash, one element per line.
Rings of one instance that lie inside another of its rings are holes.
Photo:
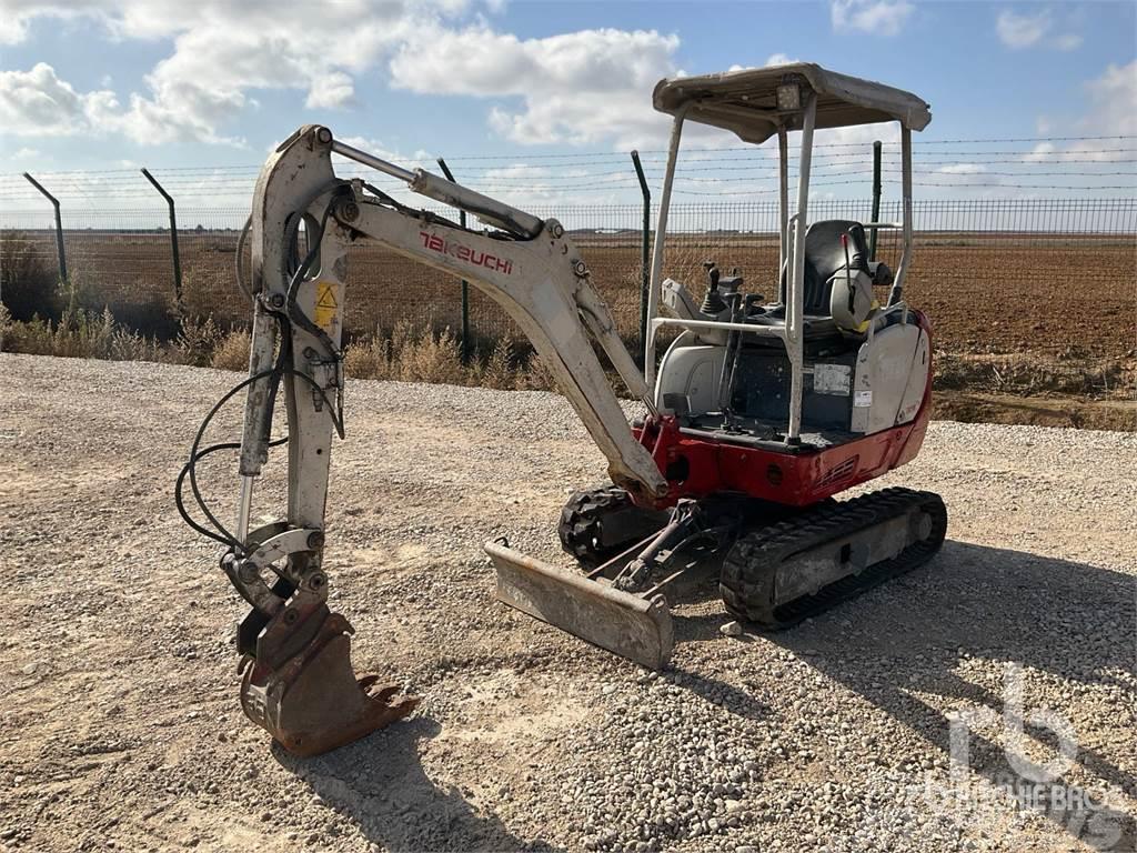
<path fill-rule="evenodd" d="M 559 201 L 563 192 L 542 194 L 522 180 L 553 174 L 546 155 L 580 154 L 570 174 L 583 176 L 604 163 L 584 155 L 663 146 L 667 123 L 649 106 L 661 76 L 789 58 L 920 94 L 932 107 L 929 141 L 1030 138 L 947 147 L 928 167 L 958 192 L 990 192 L 1021 183 L 1020 173 L 1118 171 L 1104 164 L 1132 159 L 1109 152 L 1131 140 L 1041 138 L 1137 135 L 1135 10 L 1132 2 L 918 0 L 291 8 L 281 0 L 0 0 L 0 172 L 9 176 L 0 189 L 24 169 L 147 165 L 159 176 L 186 167 L 208 176 L 214 167 L 251 168 L 297 125 L 318 122 L 405 160 L 446 155 L 456 169 L 480 168 L 483 187 L 495 179 L 487 163 L 512 167 L 512 180 L 497 175 L 501 187 Z M 830 141 L 875 135 L 879 129 Z M 981 160 L 972 152 L 991 148 L 1021 155 L 1010 177 L 972 168 Z M 476 156 L 501 159 L 462 160 Z M 1059 175 L 1059 183 L 1109 181 Z"/>

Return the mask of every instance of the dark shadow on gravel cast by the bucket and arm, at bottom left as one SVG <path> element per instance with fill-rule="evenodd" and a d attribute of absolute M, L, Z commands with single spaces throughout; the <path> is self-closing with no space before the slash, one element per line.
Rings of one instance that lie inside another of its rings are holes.
<path fill-rule="evenodd" d="M 439 788 L 418 761 L 418 748 L 440 731 L 434 720 L 413 717 L 327 755 L 297 759 L 275 744 L 273 755 L 383 848 L 559 850 L 518 838 L 493 814 L 476 813 L 457 788 Z"/>

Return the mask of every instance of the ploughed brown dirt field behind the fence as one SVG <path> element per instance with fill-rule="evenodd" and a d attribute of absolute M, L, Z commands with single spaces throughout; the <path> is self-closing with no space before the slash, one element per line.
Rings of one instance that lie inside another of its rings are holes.
<path fill-rule="evenodd" d="M 53 264 L 50 235 L 34 235 L 39 254 Z M 97 303 L 116 316 L 144 324 L 160 315 L 173 295 L 169 238 L 161 233 L 114 234 L 72 231 L 69 265 Z M 580 235 L 578 242 L 596 282 L 628 336 L 639 328 L 638 238 Z M 234 284 L 233 231 L 186 231 L 181 257 L 191 309 L 219 320 L 246 322 L 248 308 Z M 748 289 L 777 295 L 777 241 L 755 237 L 677 234 L 665 273 L 702 293 L 702 263 L 738 266 Z M 1132 238 L 1024 234 L 918 234 L 906 298 L 932 317 L 936 346 L 952 353 L 1031 353 L 1047 357 L 1132 356 Z M 880 256 L 897 266 L 895 238 Z M 459 328 L 457 282 L 375 247 L 352 254 L 356 273 L 346 306 L 347 326 L 366 332 L 398 320 Z M 514 333 L 508 321 L 476 290 L 472 328 L 493 338 Z"/>

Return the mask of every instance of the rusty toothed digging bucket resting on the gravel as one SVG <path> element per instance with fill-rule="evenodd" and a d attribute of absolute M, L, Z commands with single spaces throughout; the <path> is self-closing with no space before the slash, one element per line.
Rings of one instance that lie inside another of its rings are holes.
<path fill-rule="evenodd" d="M 330 752 L 415 710 L 417 698 L 395 701 L 397 687 L 375 689 L 376 677 L 356 678 L 352 628 L 342 615 L 321 605 L 304 622 L 315 627 L 314 632 L 299 628 L 310 639 L 283 654 L 271 647 L 269 623 L 241 681 L 244 713 L 285 750 L 299 756 Z M 281 648 L 289 646 L 293 644 L 285 641 Z"/>

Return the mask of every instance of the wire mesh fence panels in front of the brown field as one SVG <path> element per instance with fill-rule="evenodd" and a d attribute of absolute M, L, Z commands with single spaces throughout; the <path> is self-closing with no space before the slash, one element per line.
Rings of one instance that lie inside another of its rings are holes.
<path fill-rule="evenodd" d="M 810 218 L 868 221 L 870 200 L 816 200 Z M 642 209 L 638 205 L 534 209 L 555 216 L 581 247 L 594 283 L 624 337 L 638 337 Z M 246 212 L 179 209 L 183 304 L 223 324 L 247 323 L 235 284 L 235 252 Z M 882 221 L 898 221 L 885 202 Z M 155 210 L 64 209 L 64 248 L 84 303 L 146 331 L 168 330 L 174 268 L 168 227 Z M 654 212 L 653 212 L 654 221 Z M 1121 357 L 1135 347 L 1137 200 L 927 200 L 914 205 L 916 251 L 907 300 L 932 317 L 938 346 L 952 351 Z M 5 240 L 55 273 L 50 208 L 5 210 Z M 738 267 L 747 290 L 778 289 L 778 206 L 774 201 L 677 202 L 672 206 L 666 275 L 702 293 L 705 260 Z M 650 241 L 653 235 L 648 235 Z M 878 257 L 895 268 L 898 234 L 881 231 Z M 460 328 L 458 283 L 374 243 L 351 251 L 346 305 L 349 334 L 391 329 Z M 470 328 L 484 343 L 518 337 L 497 305 L 471 288 Z"/>

